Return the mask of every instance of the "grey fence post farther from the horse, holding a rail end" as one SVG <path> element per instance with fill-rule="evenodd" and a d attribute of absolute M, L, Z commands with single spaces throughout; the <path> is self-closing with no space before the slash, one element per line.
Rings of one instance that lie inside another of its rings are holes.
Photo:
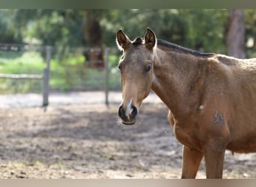
<path fill-rule="evenodd" d="M 46 68 L 43 69 L 43 106 L 49 104 L 49 70 L 52 58 L 52 47 L 46 46 Z"/>

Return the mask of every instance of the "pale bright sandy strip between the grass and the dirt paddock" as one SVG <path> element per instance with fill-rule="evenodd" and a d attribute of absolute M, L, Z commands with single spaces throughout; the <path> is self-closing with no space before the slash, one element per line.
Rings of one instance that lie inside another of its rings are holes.
<path fill-rule="evenodd" d="M 109 91 L 109 103 L 118 104 L 121 102 L 122 93 Z M 162 103 L 158 96 L 150 93 L 144 103 Z M 106 103 L 106 93 L 104 91 L 86 91 L 70 93 L 50 93 L 49 105 L 70 105 L 70 104 L 103 104 Z M 43 105 L 43 96 L 38 93 L 19 93 L 10 95 L 0 95 L 0 108 L 24 108 Z"/>

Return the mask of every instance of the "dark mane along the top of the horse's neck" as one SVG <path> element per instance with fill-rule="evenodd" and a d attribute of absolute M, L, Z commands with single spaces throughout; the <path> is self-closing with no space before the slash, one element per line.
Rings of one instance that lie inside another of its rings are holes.
<path fill-rule="evenodd" d="M 174 50 L 175 52 L 189 53 L 191 55 L 196 55 L 196 56 L 201 56 L 201 57 L 211 57 L 214 55 L 213 53 L 203 53 L 203 52 L 198 52 L 198 51 L 195 51 L 192 49 L 187 49 L 183 46 L 179 46 L 174 43 L 169 43 L 168 41 L 165 41 L 165 40 L 157 40 L 157 45 L 165 46 L 168 49 Z"/>

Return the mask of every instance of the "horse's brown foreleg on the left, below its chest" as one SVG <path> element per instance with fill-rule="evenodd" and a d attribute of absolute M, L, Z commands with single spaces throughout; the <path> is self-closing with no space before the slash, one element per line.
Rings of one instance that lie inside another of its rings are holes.
<path fill-rule="evenodd" d="M 198 173 L 198 168 L 203 156 L 203 153 L 201 153 L 199 150 L 183 146 L 183 163 L 181 178 L 194 179 L 196 174 Z"/>

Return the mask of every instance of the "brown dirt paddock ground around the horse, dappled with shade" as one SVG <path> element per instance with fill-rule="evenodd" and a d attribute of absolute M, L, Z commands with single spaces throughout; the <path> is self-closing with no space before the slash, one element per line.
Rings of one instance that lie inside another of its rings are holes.
<path fill-rule="evenodd" d="M 182 145 L 165 105 L 144 104 L 135 126 L 118 124 L 117 109 L 0 109 L 0 178 L 180 178 Z M 256 178 L 255 161 L 227 151 L 224 178 Z"/>

